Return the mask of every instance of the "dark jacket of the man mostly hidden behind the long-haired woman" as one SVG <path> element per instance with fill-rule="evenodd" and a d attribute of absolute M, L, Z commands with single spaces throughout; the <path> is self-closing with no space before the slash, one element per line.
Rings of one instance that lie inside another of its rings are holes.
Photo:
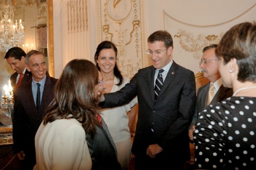
<path fill-rule="evenodd" d="M 92 170 L 121 170 L 117 160 L 117 150 L 114 141 L 103 119 L 103 127 L 98 124 L 94 138 L 86 134 L 86 142 L 92 158 Z"/>

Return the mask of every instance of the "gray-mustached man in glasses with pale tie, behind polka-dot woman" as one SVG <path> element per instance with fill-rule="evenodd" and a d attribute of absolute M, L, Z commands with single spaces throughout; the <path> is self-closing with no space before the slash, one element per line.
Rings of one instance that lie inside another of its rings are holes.
<path fill-rule="evenodd" d="M 222 85 L 222 79 L 218 70 L 220 59 L 215 55 L 216 48 L 217 44 L 206 46 L 203 49 L 202 59 L 199 62 L 204 77 L 210 82 L 198 88 L 196 96 L 196 112 L 193 116 L 193 120 L 190 124 L 191 128 L 188 132 L 190 140 L 193 140 L 193 132 L 198 113 L 201 112 L 205 106 L 225 100 L 226 98 L 231 97 L 233 94 L 233 90 L 231 88 L 226 88 Z M 209 94 L 211 91 L 210 85 L 214 86 L 213 98 L 210 98 Z"/>

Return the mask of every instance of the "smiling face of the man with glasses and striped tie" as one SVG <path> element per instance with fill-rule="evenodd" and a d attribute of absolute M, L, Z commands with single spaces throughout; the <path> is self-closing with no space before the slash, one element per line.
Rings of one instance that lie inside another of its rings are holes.
<path fill-rule="evenodd" d="M 154 68 L 163 68 L 164 66 L 170 63 L 172 49 L 172 47 L 166 49 L 166 46 L 163 41 L 156 41 L 153 43 L 148 42 L 148 50 L 153 52 L 149 56 L 153 62 Z M 158 52 L 156 51 L 162 51 L 162 53 L 157 54 Z"/>

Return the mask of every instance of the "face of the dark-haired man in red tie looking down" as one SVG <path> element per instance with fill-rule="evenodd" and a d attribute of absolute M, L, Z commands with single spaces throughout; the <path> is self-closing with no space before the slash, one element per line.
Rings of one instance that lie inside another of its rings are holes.
<path fill-rule="evenodd" d="M 22 56 L 21 59 L 15 59 L 14 57 L 9 57 L 6 59 L 12 70 L 15 70 L 18 74 L 21 74 L 25 67 L 25 57 Z"/>

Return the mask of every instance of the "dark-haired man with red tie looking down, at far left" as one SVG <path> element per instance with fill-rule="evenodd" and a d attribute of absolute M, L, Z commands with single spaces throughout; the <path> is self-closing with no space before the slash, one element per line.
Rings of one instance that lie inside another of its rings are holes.
<path fill-rule="evenodd" d="M 26 81 L 32 78 L 31 72 L 26 70 L 25 62 L 26 53 L 19 47 L 13 47 L 8 50 L 5 54 L 5 59 L 10 65 L 10 67 L 16 72 L 10 77 L 12 88 L 15 89 L 16 84 L 18 84 L 20 79 L 20 84 L 24 84 Z M 22 76 L 20 76 L 22 75 Z M 18 86 L 17 85 L 17 86 Z"/>

